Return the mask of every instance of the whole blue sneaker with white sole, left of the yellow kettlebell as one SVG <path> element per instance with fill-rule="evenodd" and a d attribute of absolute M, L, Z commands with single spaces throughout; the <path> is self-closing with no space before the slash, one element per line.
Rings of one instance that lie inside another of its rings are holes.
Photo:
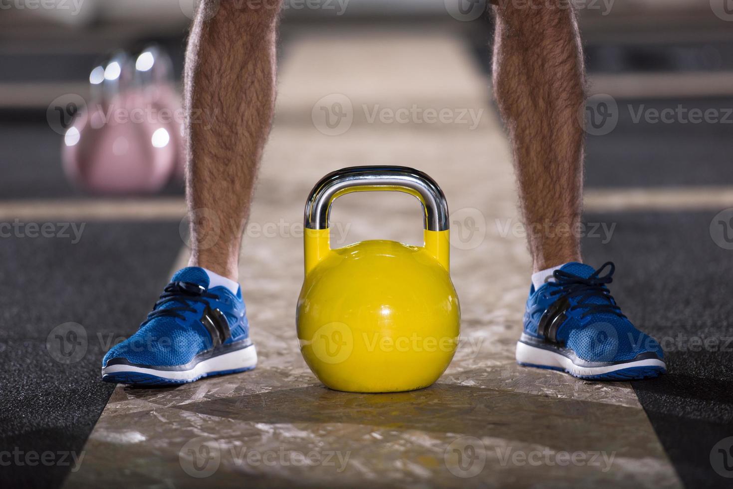
<path fill-rule="evenodd" d="M 136 334 L 104 356 L 102 380 L 168 385 L 254 369 L 241 287 L 208 287 L 203 268 L 177 271 Z"/>

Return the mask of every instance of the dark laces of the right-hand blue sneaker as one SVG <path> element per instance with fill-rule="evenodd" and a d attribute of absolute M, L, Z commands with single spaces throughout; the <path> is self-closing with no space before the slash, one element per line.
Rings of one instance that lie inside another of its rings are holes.
<path fill-rule="evenodd" d="M 606 267 L 610 267 L 608 273 L 601 275 Z M 564 270 L 556 270 L 553 273 L 555 282 L 548 282 L 548 285 L 555 289 L 549 295 L 559 295 L 568 299 L 577 298 L 575 305 L 570 306 L 570 310 L 583 310 L 581 319 L 594 314 L 611 314 L 625 318 L 621 308 L 616 305 L 611 291 L 606 287 L 606 284 L 614 281 L 612 278 L 614 271 L 616 271 L 614 262 L 605 262 L 588 278 Z"/>

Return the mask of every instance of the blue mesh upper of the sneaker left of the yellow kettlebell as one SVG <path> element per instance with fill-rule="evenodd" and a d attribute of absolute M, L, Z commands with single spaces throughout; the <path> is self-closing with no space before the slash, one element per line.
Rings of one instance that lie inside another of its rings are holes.
<path fill-rule="evenodd" d="M 222 344 L 248 341 L 249 328 L 241 288 L 209 287 L 209 276 L 199 267 L 177 271 L 139 330 L 112 347 L 102 360 L 122 358 L 130 364 L 172 367 L 188 364 L 197 353 L 221 342 L 202 323 L 205 311 L 218 309 L 226 318 L 230 337 Z"/>

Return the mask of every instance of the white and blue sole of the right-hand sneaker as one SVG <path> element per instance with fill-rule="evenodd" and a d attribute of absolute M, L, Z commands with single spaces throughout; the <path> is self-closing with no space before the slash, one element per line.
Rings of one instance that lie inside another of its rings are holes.
<path fill-rule="evenodd" d="M 599 367 L 583 367 L 562 353 L 517 342 L 517 363 L 526 367 L 559 370 L 587 380 L 637 380 L 654 378 L 667 371 L 664 361 L 644 359 Z"/>

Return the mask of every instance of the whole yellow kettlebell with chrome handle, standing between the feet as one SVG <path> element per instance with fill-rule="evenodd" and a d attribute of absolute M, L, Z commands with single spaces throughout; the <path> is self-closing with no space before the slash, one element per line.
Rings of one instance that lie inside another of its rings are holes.
<path fill-rule="evenodd" d="M 402 191 L 422 203 L 424 246 L 368 240 L 331 249 L 331 203 L 358 191 Z M 317 378 L 349 392 L 430 386 L 458 343 L 460 306 L 449 275 L 448 205 L 432 178 L 402 166 L 326 175 L 306 202 L 306 276 L 298 342 Z"/>

